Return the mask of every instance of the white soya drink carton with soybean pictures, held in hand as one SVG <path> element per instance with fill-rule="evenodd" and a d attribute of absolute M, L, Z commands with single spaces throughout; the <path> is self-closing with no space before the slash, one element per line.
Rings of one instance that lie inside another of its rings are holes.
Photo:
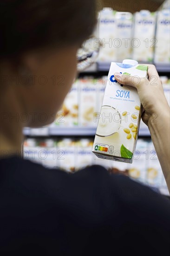
<path fill-rule="evenodd" d="M 99 158 L 119 162 L 133 162 L 142 106 L 137 89 L 125 86 L 114 73 L 147 77 L 148 66 L 137 61 L 111 62 L 101 112 L 96 115 L 98 127 L 92 152 Z"/>

